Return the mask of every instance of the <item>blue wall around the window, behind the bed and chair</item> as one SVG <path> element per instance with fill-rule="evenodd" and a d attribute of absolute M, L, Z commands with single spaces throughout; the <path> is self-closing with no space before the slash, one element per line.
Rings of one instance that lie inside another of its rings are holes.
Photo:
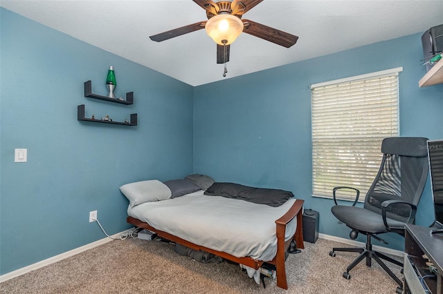
<path fill-rule="evenodd" d="M 443 138 L 443 84 L 418 88 L 426 73 L 421 34 L 292 63 L 195 88 L 194 171 L 219 182 L 292 190 L 320 212 L 320 233 L 347 238 L 331 199 L 311 197 L 311 84 L 403 67 L 400 135 Z M 300 38 L 302 41 L 302 38 Z M 235 65 L 231 65 L 235 66 Z M 349 204 L 349 203 L 347 203 Z M 417 224 L 433 222 L 426 185 Z M 359 241 L 365 241 L 360 237 Z M 404 239 L 387 237 L 391 248 Z M 379 243 L 377 242 L 377 245 Z M 380 244 L 381 245 L 381 244 Z"/>

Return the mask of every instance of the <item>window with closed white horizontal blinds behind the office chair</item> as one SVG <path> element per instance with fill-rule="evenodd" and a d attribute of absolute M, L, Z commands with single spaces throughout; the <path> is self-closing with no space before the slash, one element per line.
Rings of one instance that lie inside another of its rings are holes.
<path fill-rule="evenodd" d="M 332 197 L 335 186 L 350 186 L 363 201 L 379 170 L 381 141 L 399 135 L 401 70 L 311 86 L 314 196 Z M 355 192 L 343 191 L 339 199 L 354 200 Z"/>

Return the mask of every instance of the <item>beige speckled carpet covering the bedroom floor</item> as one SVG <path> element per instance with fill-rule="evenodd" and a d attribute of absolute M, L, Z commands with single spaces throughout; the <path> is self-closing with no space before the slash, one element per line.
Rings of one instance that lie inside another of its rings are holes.
<path fill-rule="evenodd" d="M 395 293 L 397 284 L 375 262 L 362 262 L 345 280 L 343 271 L 356 253 L 330 257 L 333 246 L 345 244 L 318 239 L 289 255 L 287 291 L 270 278 L 263 288 L 235 264 L 201 264 L 177 255 L 167 242 L 126 239 L 3 282 L 0 293 Z"/>

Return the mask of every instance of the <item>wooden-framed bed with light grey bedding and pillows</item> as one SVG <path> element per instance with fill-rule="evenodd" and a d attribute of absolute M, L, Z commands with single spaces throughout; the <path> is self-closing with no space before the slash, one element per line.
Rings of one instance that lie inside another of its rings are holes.
<path fill-rule="evenodd" d="M 273 264 L 277 286 L 288 288 L 285 252 L 292 240 L 304 248 L 303 200 L 292 193 L 218 183 L 205 175 L 134 182 L 120 190 L 129 199 L 129 224 L 255 273 L 264 262 Z"/>

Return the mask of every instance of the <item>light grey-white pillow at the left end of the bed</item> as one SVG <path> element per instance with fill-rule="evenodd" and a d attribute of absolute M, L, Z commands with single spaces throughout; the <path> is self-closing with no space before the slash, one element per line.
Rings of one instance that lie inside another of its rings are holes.
<path fill-rule="evenodd" d="M 120 191 L 129 199 L 131 208 L 145 202 L 168 199 L 172 195 L 170 188 L 157 179 L 125 184 Z"/>

